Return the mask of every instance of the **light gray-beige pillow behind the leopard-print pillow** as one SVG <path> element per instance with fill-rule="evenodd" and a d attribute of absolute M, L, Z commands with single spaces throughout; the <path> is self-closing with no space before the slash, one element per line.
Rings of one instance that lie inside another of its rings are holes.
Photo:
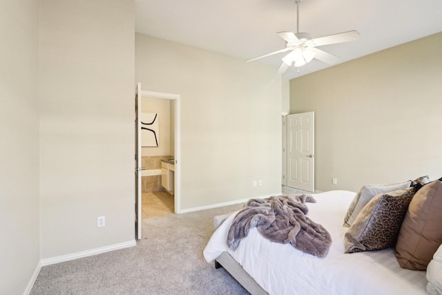
<path fill-rule="evenodd" d="M 374 196 L 379 193 L 390 193 L 390 191 L 397 191 L 398 189 L 407 189 L 410 187 L 410 184 L 411 180 L 395 184 L 365 185 L 356 193 L 352 204 L 348 207 L 347 214 L 345 214 L 344 218 L 344 226 L 349 227 L 352 225 L 358 213 Z"/>

